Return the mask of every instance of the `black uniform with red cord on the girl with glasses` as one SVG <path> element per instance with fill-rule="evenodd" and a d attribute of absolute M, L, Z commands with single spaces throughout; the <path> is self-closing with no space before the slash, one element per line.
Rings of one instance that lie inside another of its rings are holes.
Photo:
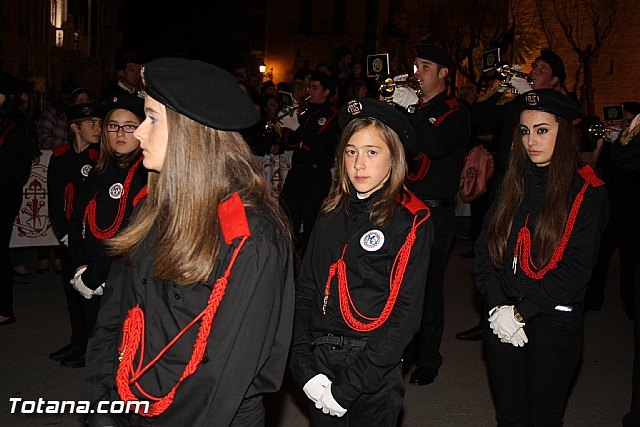
<path fill-rule="evenodd" d="M 112 158 L 104 173 L 89 176 L 83 196 L 84 208 L 74 213 L 69 235 L 72 263 L 76 269 L 87 266 L 82 281 L 94 290 L 105 283 L 113 261 L 106 253 L 106 240 L 128 224 L 135 203 L 146 191 L 147 170 L 142 166 L 142 155 L 128 167 L 118 168 L 116 163 Z M 98 297 L 86 302 L 89 333 L 99 306 Z"/>

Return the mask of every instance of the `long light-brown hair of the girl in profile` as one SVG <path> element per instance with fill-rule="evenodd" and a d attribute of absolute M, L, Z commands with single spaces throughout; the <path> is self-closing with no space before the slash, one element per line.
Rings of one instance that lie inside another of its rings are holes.
<path fill-rule="evenodd" d="M 220 248 L 218 205 L 238 192 L 245 207 L 264 206 L 290 238 L 284 213 L 266 189 L 238 132 L 212 129 L 167 108 L 162 173 L 150 172 L 148 198 L 133 223 L 109 243 L 128 256 L 154 225 L 154 277 L 181 285 L 204 281 Z"/>

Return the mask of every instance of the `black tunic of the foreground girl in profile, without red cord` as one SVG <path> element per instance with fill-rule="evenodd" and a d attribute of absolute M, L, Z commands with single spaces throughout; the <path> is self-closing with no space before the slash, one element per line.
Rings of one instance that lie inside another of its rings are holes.
<path fill-rule="evenodd" d="M 227 426 L 254 425 L 264 416 L 262 395 L 280 387 L 293 323 L 294 279 L 288 238 L 259 208 L 246 211 L 251 237 L 231 270 L 226 293 L 215 315 L 204 359 L 177 389 L 161 415 L 144 418 L 94 414 L 90 425 Z M 89 341 L 83 396 L 121 400 L 115 389 L 118 346 L 127 312 L 140 305 L 145 315 L 144 362 L 149 362 L 207 305 L 215 280 L 229 265 L 240 239 L 221 248 L 206 283 L 179 286 L 151 274 L 153 230 L 134 251 L 131 262 L 118 262 L 107 287 Z M 190 328 L 140 381 L 143 389 L 164 396 L 178 381 L 191 357 L 199 322 Z M 137 393 L 135 387 L 132 391 Z M 146 400 L 138 394 L 141 400 Z"/>

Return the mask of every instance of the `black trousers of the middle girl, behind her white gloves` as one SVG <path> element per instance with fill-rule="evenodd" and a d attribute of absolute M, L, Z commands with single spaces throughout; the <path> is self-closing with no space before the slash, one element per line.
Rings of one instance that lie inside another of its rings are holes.
<path fill-rule="evenodd" d="M 313 350 L 318 373 L 334 380 L 346 366 L 362 352 L 362 348 L 337 348 L 322 344 Z M 343 417 L 324 414 L 309 400 L 312 427 L 396 427 L 404 400 L 402 363 L 398 363 L 382 380 L 382 388 L 375 393 L 362 394 L 347 408 Z M 340 403 L 340 402 L 338 402 Z"/>

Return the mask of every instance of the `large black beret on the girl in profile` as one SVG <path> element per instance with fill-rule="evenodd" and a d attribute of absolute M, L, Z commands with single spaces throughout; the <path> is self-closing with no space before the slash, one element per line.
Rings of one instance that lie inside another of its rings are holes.
<path fill-rule="evenodd" d="M 142 77 L 153 99 L 214 129 L 245 129 L 260 119 L 236 79 L 215 65 L 159 58 L 143 66 Z"/>

